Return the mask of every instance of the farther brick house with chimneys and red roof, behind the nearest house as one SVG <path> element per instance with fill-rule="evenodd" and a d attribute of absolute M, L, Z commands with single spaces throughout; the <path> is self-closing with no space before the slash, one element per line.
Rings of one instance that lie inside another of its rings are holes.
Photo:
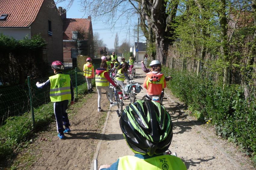
<path fill-rule="evenodd" d="M 90 16 L 87 19 L 67 18 L 65 9 L 59 7 L 58 11 L 63 21 L 64 62 L 72 63 L 73 61 L 75 64 L 76 57 L 80 55 L 93 57 L 92 18 Z M 82 46 L 80 47 L 80 45 Z"/>

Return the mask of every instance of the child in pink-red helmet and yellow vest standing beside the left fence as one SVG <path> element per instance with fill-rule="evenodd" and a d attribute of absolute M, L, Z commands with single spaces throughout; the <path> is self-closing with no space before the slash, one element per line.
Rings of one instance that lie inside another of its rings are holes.
<path fill-rule="evenodd" d="M 87 63 L 83 66 L 83 75 L 86 77 L 88 93 L 93 93 L 92 79 L 94 78 L 94 67 L 92 65 L 92 59 L 88 57 L 86 62 Z"/>

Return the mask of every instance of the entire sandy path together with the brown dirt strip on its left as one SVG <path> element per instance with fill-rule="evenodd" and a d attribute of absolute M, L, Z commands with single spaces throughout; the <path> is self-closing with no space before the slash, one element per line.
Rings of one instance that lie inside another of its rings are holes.
<path fill-rule="evenodd" d="M 145 74 L 137 69 L 136 82 L 142 84 Z M 170 92 L 165 90 L 170 96 Z M 141 99 L 145 89 L 138 94 Z M 102 95 L 103 109 L 97 112 L 97 93 L 88 95 L 70 120 L 71 133 L 65 140 L 59 140 L 55 123 L 51 130 L 44 132 L 33 142 L 33 149 L 28 150 L 35 158 L 31 165 L 20 163 L 17 169 L 93 169 L 92 159 L 98 158 L 98 167 L 112 164 L 118 157 L 133 155 L 127 146 L 119 126 L 115 110 L 108 111 L 109 102 Z M 129 104 L 125 101 L 125 106 Z M 240 153 L 232 143 L 218 138 L 211 126 L 198 124 L 188 115 L 186 106 L 173 96 L 164 101 L 164 107 L 173 120 L 173 140 L 170 150 L 185 162 L 188 169 L 253 169 L 251 161 Z M 71 113 L 72 114 L 72 113 Z M 104 114 L 104 115 L 103 115 Z M 104 128 L 104 120 L 107 117 Z M 101 122 L 101 123 L 99 123 Z M 105 132 L 101 134 L 101 131 Z M 48 140 L 42 140 L 47 138 Z"/>

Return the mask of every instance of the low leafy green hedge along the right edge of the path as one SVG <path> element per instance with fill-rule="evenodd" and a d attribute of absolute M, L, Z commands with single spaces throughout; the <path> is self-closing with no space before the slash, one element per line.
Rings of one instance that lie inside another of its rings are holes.
<path fill-rule="evenodd" d="M 240 85 L 222 84 L 198 77 L 195 73 L 163 68 L 173 95 L 189 106 L 199 120 L 210 120 L 217 135 L 238 144 L 247 154 L 256 155 L 256 99 L 248 101 Z"/>

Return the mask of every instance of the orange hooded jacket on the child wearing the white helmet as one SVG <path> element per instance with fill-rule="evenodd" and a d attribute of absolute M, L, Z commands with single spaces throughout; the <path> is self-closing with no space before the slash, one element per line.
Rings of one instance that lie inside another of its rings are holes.
<path fill-rule="evenodd" d="M 148 95 L 160 95 L 162 89 L 166 87 L 164 74 L 161 72 L 154 73 L 150 71 L 147 73 L 143 86 L 147 89 Z"/>

